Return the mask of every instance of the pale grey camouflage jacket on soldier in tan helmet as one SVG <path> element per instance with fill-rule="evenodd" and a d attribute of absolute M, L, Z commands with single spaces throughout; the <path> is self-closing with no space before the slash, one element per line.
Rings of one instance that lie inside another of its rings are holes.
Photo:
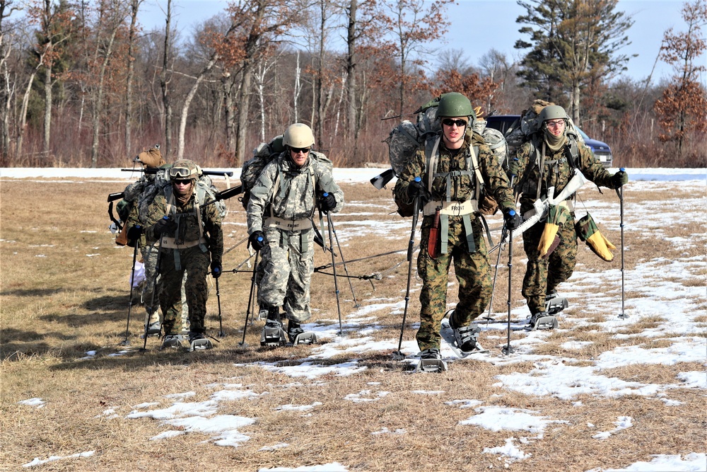
<path fill-rule="evenodd" d="M 317 197 L 323 192 L 331 193 L 337 199 L 333 213 L 344 207 L 344 192 L 324 163 L 310 156 L 304 166 L 298 167 L 288 152 L 284 151 L 268 163 L 250 190 L 248 234 L 262 231 L 264 220 L 271 214 L 288 220 L 311 218 L 317 208 Z"/>

